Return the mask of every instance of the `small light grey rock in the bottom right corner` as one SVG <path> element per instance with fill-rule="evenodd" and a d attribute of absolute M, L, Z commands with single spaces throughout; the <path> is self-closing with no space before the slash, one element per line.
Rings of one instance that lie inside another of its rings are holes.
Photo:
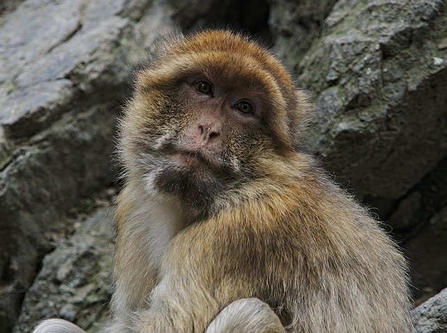
<path fill-rule="evenodd" d="M 418 333 L 447 332 L 447 288 L 413 310 Z"/>

